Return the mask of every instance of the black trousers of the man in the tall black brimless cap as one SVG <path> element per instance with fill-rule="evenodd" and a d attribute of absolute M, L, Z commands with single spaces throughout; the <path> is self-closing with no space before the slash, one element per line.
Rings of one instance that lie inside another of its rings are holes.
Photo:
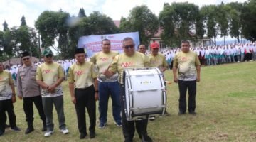
<path fill-rule="evenodd" d="M 89 131 L 94 132 L 96 126 L 96 103 L 95 103 L 95 89 L 93 86 L 86 89 L 75 89 L 75 111 L 78 118 L 78 129 L 80 133 L 87 134 L 86 132 L 86 120 L 85 120 L 85 108 L 87 108 L 90 127 Z"/>

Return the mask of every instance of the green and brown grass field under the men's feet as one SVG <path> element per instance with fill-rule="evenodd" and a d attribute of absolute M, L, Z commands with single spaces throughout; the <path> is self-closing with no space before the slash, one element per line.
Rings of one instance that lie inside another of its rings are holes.
<path fill-rule="evenodd" d="M 172 72 L 166 71 L 166 78 L 172 81 Z M 20 132 L 6 129 L 0 141 L 80 141 L 75 107 L 70 101 L 68 84 L 63 82 L 65 94 L 65 117 L 70 133 L 63 136 L 58 130 L 54 111 L 55 133 L 43 137 L 41 120 L 35 111 L 35 131 L 25 135 L 26 121 L 23 102 L 18 100 L 15 107 Z M 110 103 L 111 104 L 111 101 Z M 156 142 L 165 141 L 256 141 L 256 62 L 201 67 L 201 82 L 197 86 L 196 116 L 178 116 L 178 84 L 168 86 L 168 111 L 164 116 L 149 121 L 148 133 Z M 109 105 L 110 106 L 110 105 Z M 111 106 L 108 126 L 96 128 L 94 139 L 82 141 L 124 141 L 122 128 L 114 125 Z M 35 109 L 34 109 L 35 110 Z M 99 116 L 97 111 L 97 117 Z M 87 118 L 87 124 L 88 124 Z M 99 121 L 97 121 L 97 126 Z M 88 125 L 87 125 L 88 126 Z M 140 141 L 135 133 L 134 141 Z"/>

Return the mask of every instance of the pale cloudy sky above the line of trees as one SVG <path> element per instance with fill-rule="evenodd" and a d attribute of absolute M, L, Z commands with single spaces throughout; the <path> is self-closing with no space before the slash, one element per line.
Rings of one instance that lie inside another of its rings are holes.
<path fill-rule="evenodd" d="M 77 16 L 79 9 L 83 8 L 87 16 L 93 11 L 100 11 L 113 20 L 120 20 L 122 16 L 127 18 L 132 8 L 144 4 L 158 16 L 164 3 L 171 4 L 174 1 L 188 1 L 201 7 L 208 4 L 220 4 L 221 1 L 226 4 L 232 1 L 244 2 L 245 0 L 0 0 L 0 30 L 3 30 L 4 21 L 8 23 L 9 28 L 20 26 L 23 15 L 27 25 L 34 27 L 38 16 L 47 10 L 62 9 L 70 13 L 71 16 Z"/>

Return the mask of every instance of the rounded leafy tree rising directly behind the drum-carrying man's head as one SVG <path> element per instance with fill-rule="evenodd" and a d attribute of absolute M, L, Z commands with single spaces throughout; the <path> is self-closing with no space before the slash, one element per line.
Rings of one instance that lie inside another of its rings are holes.
<path fill-rule="evenodd" d="M 150 39 L 159 30 L 159 21 L 154 13 L 145 6 L 136 6 L 130 11 L 128 18 L 122 18 L 120 31 L 139 31 L 140 43 L 149 45 Z"/>

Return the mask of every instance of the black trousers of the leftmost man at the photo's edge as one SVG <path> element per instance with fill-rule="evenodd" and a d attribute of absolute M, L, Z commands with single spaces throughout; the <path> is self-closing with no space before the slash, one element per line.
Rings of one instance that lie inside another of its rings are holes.
<path fill-rule="evenodd" d="M 6 113 L 8 112 L 9 115 L 9 122 L 11 128 L 16 127 L 16 115 L 14 113 L 14 105 L 11 99 L 1 100 L 0 101 L 0 131 L 5 131 L 6 125 Z"/>

